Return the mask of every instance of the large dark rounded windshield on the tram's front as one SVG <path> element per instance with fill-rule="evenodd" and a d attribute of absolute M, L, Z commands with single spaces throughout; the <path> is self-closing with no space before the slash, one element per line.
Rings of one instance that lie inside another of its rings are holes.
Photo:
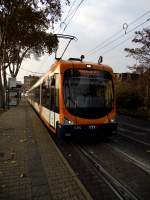
<path fill-rule="evenodd" d="M 64 102 L 78 117 L 96 119 L 112 110 L 112 75 L 106 71 L 69 69 L 64 73 Z"/>

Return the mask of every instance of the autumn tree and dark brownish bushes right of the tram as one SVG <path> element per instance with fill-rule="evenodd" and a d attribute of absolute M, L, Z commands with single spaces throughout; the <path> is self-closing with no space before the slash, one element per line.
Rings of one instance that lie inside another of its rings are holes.
<path fill-rule="evenodd" d="M 135 32 L 132 40 L 137 48 L 125 48 L 127 56 L 136 60 L 128 67 L 138 74 L 137 80 L 117 81 L 117 107 L 123 113 L 150 117 L 150 29 Z"/>

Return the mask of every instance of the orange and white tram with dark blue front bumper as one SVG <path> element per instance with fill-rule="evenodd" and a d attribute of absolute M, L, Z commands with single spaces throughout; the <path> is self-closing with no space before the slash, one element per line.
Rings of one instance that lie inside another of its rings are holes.
<path fill-rule="evenodd" d="M 104 64 L 57 60 L 28 91 L 28 101 L 61 138 L 116 132 L 113 71 Z"/>

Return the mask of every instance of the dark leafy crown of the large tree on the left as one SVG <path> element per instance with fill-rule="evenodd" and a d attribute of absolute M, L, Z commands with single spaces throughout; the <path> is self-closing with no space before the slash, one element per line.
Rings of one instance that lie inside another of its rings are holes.
<path fill-rule="evenodd" d="M 69 4 L 68 0 L 63 2 Z M 0 0 L 1 98 L 7 85 L 7 68 L 16 77 L 24 58 L 31 54 L 39 57 L 57 47 L 57 38 L 47 31 L 61 18 L 61 6 L 60 0 Z"/>

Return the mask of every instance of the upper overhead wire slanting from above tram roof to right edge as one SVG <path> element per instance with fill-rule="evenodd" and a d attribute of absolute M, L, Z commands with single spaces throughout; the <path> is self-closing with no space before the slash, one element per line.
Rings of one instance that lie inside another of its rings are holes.
<path fill-rule="evenodd" d="M 150 10 L 148 10 L 147 12 L 145 12 L 144 14 L 140 15 L 139 17 L 137 17 L 135 20 L 133 20 L 131 23 L 128 24 L 128 26 L 131 26 L 133 24 L 135 24 L 138 20 L 140 20 L 141 18 L 143 18 L 145 15 L 149 14 Z M 112 38 L 116 37 L 118 34 L 120 34 L 123 31 L 123 29 L 121 29 L 120 31 L 117 31 L 116 33 L 114 33 L 113 35 L 111 35 L 110 37 L 108 37 L 106 40 L 104 40 L 103 42 L 99 43 L 98 45 L 96 45 L 96 47 L 94 47 L 93 49 L 91 49 L 90 51 L 88 51 L 86 53 L 86 56 L 92 55 L 93 52 L 95 52 L 95 50 L 99 49 L 99 47 L 105 43 L 108 43 L 109 40 L 111 40 Z"/>

